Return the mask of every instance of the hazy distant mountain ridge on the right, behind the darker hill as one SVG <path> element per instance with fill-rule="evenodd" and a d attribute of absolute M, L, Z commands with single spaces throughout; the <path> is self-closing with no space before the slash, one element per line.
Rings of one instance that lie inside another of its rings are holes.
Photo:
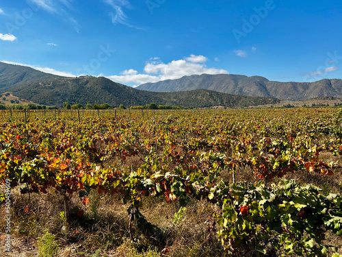
<path fill-rule="evenodd" d="M 233 95 L 306 100 L 318 97 L 342 97 L 342 79 L 322 79 L 317 82 L 274 82 L 259 76 L 202 74 L 146 83 L 138 86 L 137 89 L 155 92 L 208 89 Z"/>

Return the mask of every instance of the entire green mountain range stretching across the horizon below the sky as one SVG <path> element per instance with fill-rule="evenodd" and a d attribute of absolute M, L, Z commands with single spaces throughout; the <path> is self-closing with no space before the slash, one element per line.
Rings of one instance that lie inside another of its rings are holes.
<path fill-rule="evenodd" d="M 61 77 L 0 62 L 0 93 L 5 92 L 48 106 L 62 106 L 68 101 L 83 105 L 109 103 L 114 107 L 157 103 L 187 108 L 241 108 L 279 103 L 280 99 L 342 98 L 342 79 L 274 82 L 260 76 L 202 74 L 131 88 L 105 77 Z"/>

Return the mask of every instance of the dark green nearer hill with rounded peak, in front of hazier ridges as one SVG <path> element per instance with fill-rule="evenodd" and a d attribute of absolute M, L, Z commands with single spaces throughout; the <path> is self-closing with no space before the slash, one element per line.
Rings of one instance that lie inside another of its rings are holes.
<path fill-rule="evenodd" d="M 112 82 L 105 77 L 83 76 L 37 82 L 12 88 L 13 95 L 48 106 L 70 104 L 109 103 L 111 106 L 139 106 L 148 103 L 187 108 L 211 106 L 246 107 L 278 103 L 278 99 L 228 95 L 211 90 L 193 90 L 176 93 L 155 93 L 137 90 Z"/>

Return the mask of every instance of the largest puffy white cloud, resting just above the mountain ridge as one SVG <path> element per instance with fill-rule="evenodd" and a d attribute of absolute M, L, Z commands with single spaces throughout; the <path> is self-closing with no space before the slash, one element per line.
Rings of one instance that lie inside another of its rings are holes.
<path fill-rule="evenodd" d="M 107 76 L 115 82 L 123 84 L 135 83 L 144 84 L 148 82 L 159 82 L 166 79 L 179 79 L 186 75 L 200 75 L 206 74 L 228 74 L 224 69 L 207 68 L 203 63 L 191 62 L 189 60 L 197 60 L 196 56 L 184 58 L 184 60 L 173 60 L 165 64 L 159 58 L 151 58 L 146 62 L 144 67 L 144 74 L 137 73 L 137 71 L 130 69 L 122 71 L 120 75 Z M 198 58 L 198 60 L 207 60 L 205 56 Z"/>

